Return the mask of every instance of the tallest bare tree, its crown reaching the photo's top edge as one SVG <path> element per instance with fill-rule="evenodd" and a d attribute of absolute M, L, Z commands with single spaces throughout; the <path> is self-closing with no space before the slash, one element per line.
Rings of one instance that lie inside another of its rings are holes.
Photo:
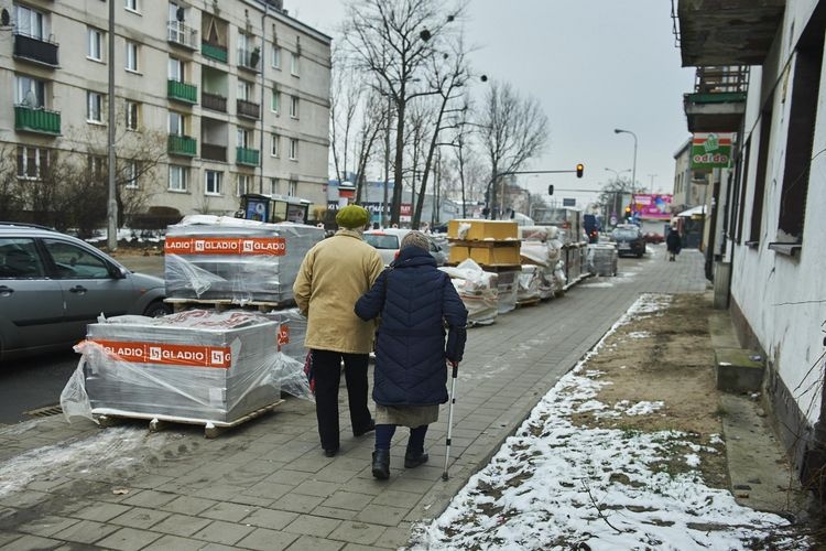
<path fill-rule="evenodd" d="M 395 153 L 391 223 L 401 212 L 406 109 L 411 99 L 434 90 L 417 86 L 425 64 L 461 11 L 438 0 L 351 0 L 345 42 L 358 66 L 372 72 L 395 106 Z"/>

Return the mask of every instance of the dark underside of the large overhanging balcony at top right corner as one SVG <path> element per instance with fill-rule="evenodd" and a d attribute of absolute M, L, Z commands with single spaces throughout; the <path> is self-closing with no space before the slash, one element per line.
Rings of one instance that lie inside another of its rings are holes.
<path fill-rule="evenodd" d="M 786 0 L 678 0 L 683 66 L 762 65 L 785 6 Z"/>

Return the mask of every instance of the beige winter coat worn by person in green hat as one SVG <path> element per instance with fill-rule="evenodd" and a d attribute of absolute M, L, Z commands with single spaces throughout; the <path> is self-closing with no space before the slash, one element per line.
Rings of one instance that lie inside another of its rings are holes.
<path fill-rule="evenodd" d="M 370 353 L 376 323 L 362 322 L 352 309 L 383 269 L 379 252 L 351 229 L 339 229 L 309 249 L 293 284 L 295 302 L 307 316 L 304 346 Z"/>

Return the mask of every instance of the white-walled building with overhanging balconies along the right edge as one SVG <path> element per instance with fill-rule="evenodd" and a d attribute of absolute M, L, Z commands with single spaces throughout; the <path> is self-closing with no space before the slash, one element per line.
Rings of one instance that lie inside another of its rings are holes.
<path fill-rule="evenodd" d="M 714 188 L 715 288 L 728 290 L 741 344 L 765 359 L 767 404 L 801 478 L 823 491 L 826 2 L 680 0 L 678 19 L 684 65 L 750 68 L 742 100 L 686 104 L 693 131 L 738 134 L 730 177 Z"/>

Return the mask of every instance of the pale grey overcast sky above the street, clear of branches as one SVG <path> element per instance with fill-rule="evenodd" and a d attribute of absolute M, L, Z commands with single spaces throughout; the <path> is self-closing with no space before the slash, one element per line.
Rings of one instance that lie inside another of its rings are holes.
<path fill-rule="evenodd" d="M 300 21 L 334 37 L 345 18 L 344 0 L 285 0 Z M 551 137 L 530 170 L 567 170 L 585 163 L 585 176 L 521 176 L 533 192 L 599 188 L 633 168 L 637 183 L 671 193 L 674 152 L 688 139 L 683 94 L 694 68 L 683 68 L 666 0 L 470 0 L 466 32 L 474 69 L 510 82 L 539 99 Z M 478 87 L 485 86 L 478 84 Z M 481 89 L 478 90 L 481 93 Z M 653 185 L 652 185 L 653 183 Z M 557 191 L 554 198 L 593 199 L 596 194 Z"/>

